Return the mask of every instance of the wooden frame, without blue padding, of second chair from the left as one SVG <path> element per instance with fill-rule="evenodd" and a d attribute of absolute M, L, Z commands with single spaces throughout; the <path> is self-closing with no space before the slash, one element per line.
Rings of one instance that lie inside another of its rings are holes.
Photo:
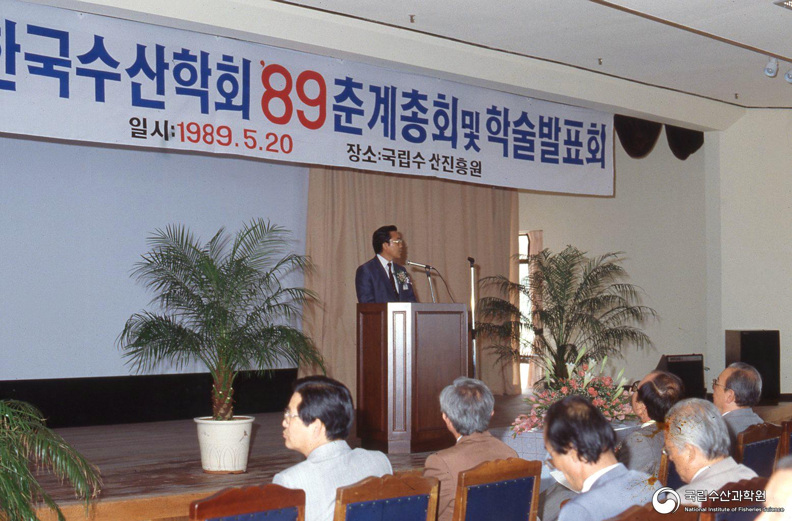
<path fill-rule="evenodd" d="M 346 521 L 346 509 L 350 503 L 386 500 L 396 497 L 429 495 L 426 521 L 437 517 L 437 492 L 440 481 L 436 477 L 423 477 L 420 470 L 407 470 L 383 477 L 367 477 L 354 485 L 340 487 L 336 492 L 336 510 L 333 521 Z"/>

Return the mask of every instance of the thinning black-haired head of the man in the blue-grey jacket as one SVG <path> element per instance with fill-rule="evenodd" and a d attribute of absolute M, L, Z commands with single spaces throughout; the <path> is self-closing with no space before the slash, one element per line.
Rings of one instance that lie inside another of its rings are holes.
<path fill-rule="evenodd" d="M 587 463 L 596 463 L 607 451 L 613 451 L 616 435 L 590 401 L 581 396 L 568 396 L 547 409 L 545 439 L 553 450 L 566 454 L 570 449 Z"/>

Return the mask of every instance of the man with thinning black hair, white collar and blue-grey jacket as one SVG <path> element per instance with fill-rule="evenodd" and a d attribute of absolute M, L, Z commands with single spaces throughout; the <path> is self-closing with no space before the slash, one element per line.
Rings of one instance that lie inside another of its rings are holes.
<path fill-rule="evenodd" d="M 550 405 L 544 437 L 550 464 L 581 491 L 561 508 L 558 521 L 608 519 L 648 503 L 659 489 L 649 474 L 619 463 L 611 424 L 584 397 L 565 397 Z"/>

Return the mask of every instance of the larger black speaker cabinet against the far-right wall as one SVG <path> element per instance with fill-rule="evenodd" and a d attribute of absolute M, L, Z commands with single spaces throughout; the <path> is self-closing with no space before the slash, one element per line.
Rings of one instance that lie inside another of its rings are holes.
<path fill-rule="evenodd" d="M 726 366 L 749 363 L 762 376 L 762 405 L 778 405 L 781 396 L 781 335 L 772 329 L 726 330 Z"/>

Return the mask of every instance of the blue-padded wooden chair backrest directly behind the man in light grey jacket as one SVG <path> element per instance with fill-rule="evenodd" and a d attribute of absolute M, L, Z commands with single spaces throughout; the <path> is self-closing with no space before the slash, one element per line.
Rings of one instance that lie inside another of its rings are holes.
<path fill-rule="evenodd" d="M 334 521 L 434 521 L 436 477 L 414 471 L 367 477 L 336 492 Z"/>

